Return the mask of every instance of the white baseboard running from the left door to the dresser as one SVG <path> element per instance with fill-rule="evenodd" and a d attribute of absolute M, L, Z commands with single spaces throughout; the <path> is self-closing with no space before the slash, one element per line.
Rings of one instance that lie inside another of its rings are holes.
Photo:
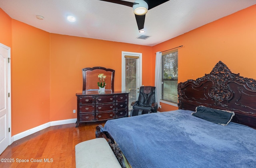
<path fill-rule="evenodd" d="M 76 118 L 74 118 L 74 119 L 59 120 L 59 121 L 50 121 L 48 123 L 39 125 L 37 127 L 34 127 L 32 129 L 23 131 L 21 133 L 18 133 L 16 135 L 12 136 L 11 143 L 13 143 L 14 141 L 17 141 L 18 139 L 22 139 L 22 138 L 24 138 L 24 137 L 26 137 L 28 135 L 36 133 L 37 131 L 41 131 L 42 129 L 46 129 L 47 127 L 50 127 L 50 126 L 70 124 L 70 123 L 75 123 L 75 122 L 76 122 Z"/>

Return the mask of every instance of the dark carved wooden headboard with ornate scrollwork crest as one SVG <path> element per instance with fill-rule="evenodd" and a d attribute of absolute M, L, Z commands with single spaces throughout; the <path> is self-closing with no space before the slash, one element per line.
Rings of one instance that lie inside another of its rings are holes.
<path fill-rule="evenodd" d="M 256 128 L 256 80 L 233 74 L 219 61 L 210 74 L 178 84 L 178 107 L 198 105 L 234 111 L 232 121 Z"/>

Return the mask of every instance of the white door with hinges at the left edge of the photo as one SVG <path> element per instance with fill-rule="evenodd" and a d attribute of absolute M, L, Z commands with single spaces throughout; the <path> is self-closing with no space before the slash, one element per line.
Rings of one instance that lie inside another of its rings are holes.
<path fill-rule="evenodd" d="M 10 47 L 0 44 L 0 154 L 10 144 Z"/>

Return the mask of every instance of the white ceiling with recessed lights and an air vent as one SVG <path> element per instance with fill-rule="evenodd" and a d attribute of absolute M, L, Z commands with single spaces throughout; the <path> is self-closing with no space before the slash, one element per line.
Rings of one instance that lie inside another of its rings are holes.
<path fill-rule="evenodd" d="M 0 0 L 0 8 L 12 19 L 50 33 L 147 46 L 254 4 L 256 0 L 170 0 L 148 11 L 143 35 L 150 37 L 137 39 L 142 34 L 128 6 L 100 0 Z M 36 19 L 36 15 L 44 20 Z M 68 15 L 76 17 L 76 21 L 67 21 Z"/>

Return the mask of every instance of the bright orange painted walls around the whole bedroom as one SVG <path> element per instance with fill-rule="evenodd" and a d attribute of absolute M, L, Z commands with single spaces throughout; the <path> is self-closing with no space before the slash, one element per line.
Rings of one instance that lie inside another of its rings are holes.
<path fill-rule="evenodd" d="M 179 82 L 209 73 L 223 61 L 233 73 L 256 78 L 256 5 L 154 47 L 52 34 L 12 20 L 0 9 L 0 43 L 11 47 L 12 135 L 49 121 L 76 118 L 82 68 L 116 70 L 121 90 L 121 52 L 142 53 L 142 84 L 154 85 L 156 51 L 180 45 Z M 162 104 L 161 111 L 176 109 Z"/>

